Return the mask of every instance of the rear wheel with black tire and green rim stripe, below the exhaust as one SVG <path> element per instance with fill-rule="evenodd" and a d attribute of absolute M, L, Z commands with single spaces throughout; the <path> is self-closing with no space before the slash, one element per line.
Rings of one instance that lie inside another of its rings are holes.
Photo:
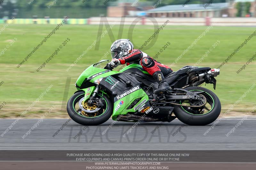
<path fill-rule="evenodd" d="M 193 108 L 189 110 L 188 107 L 177 106 L 174 109 L 174 114 L 181 122 L 187 125 L 204 126 L 214 122 L 219 117 L 221 111 L 220 100 L 211 90 L 204 87 L 188 87 L 185 90 L 204 92 L 203 95 L 210 103 L 211 108 L 205 109 L 205 113 L 205 110 L 202 111 L 204 108 L 201 108 L 201 111 L 198 109 L 199 111 L 196 112 L 196 109 L 193 110 Z"/>

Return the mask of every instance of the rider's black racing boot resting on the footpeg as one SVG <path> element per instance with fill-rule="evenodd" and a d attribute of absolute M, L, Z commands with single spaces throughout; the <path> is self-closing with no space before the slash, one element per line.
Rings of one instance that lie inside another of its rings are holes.
<path fill-rule="evenodd" d="M 153 74 L 153 77 L 156 79 L 157 83 L 159 83 L 158 89 L 156 89 L 154 91 L 155 94 L 160 94 L 161 92 L 165 92 L 166 90 L 169 89 L 170 86 L 165 81 L 164 75 L 163 75 L 163 73 L 161 71 L 156 71 Z"/>

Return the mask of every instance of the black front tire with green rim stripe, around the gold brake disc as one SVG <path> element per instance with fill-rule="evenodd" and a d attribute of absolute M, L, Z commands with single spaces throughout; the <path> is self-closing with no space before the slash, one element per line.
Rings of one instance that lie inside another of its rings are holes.
<path fill-rule="evenodd" d="M 84 125 L 84 126 L 96 126 L 106 122 L 112 115 L 113 106 L 109 98 L 104 95 L 97 95 L 98 98 L 102 98 L 104 101 L 104 108 L 102 109 L 102 113 L 96 115 L 95 117 L 89 117 L 83 115 L 78 111 L 79 107 L 76 107 L 79 100 L 84 97 L 84 91 L 77 92 L 68 100 L 67 111 L 68 115 L 75 122 Z M 95 113 L 96 114 L 96 113 Z"/>

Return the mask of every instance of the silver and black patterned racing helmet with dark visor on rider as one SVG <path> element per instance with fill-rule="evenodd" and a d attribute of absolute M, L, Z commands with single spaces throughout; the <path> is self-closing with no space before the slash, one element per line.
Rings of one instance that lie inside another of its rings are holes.
<path fill-rule="evenodd" d="M 133 44 L 129 39 L 120 39 L 113 42 L 110 47 L 112 58 L 121 58 L 131 53 Z"/>

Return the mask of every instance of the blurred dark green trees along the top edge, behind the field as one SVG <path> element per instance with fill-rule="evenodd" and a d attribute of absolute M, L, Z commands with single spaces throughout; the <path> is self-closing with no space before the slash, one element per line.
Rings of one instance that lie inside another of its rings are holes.
<path fill-rule="evenodd" d="M 51 8 L 56 9 L 60 12 L 61 9 L 71 9 L 72 11 L 81 11 L 84 12 L 84 9 L 97 9 L 97 12 L 101 9 L 106 9 L 113 2 L 119 0 L 109 0 L 108 3 L 105 3 L 106 0 L 1 0 L 0 3 L 0 18 L 8 16 L 9 18 L 18 17 L 19 11 L 42 11 L 47 9 L 49 5 Z M 122 0 L 125 1 L 125 0 Z M 135 3 L 136 5 L 143 3 L 145 1 L 151 2 L 152 5 L 158 4 L 157 7 L 164 5 L 177 5 L 177 4 L 207 4 L 210 0 L 126 0 L 130 3 Z M 222 3 L 226 0 L 214 0 L 213 3 Z M 92 10 L 91 10 L 92 11 Z M 103 10 L 106 15 L 106 10 Z M 89 14 L 90 16 L 93 14 Z M 96 16 L 96 14 L 94 15 Z"/>

